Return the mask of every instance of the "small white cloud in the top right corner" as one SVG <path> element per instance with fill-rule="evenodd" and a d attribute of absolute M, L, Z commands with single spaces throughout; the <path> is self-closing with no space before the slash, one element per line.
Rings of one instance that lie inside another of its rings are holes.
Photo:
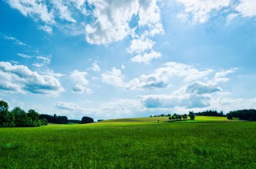
<path fill-rule="evenodd" d="M 256 16 L 256 1 L 241 0 L 235 10 L 241 13 L 243 17 L 254 17 Z"/>

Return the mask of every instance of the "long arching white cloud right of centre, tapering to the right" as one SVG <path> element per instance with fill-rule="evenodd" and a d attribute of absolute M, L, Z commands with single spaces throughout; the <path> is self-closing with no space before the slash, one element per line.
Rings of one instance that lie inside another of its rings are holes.
<path fill-rule="evenodd" d="M 162 67 L 157 68 L 152 74 L 141 74 L 139 78 L 133 78 L 126 84 L 127 89 L 149 89 L 164 88 L 170 84 L 173 77 L 183 78 L 184 81 L 190 82 L 207 76 L 213 70 L 198 70 L 193 66 L 177 62 L 167 62 Z"/>

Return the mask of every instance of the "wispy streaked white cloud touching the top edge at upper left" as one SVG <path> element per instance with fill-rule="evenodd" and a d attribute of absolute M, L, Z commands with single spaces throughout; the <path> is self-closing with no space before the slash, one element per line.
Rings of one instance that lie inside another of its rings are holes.
<path fill-rule="evenodd" d="M 36 0 L 8 0 L 11 7 L 18 9 L 22 15 L 31 17 L 40 17 L 46 23 L 55 23 L 53 12 L 49 12 L 42 1 Z"/>

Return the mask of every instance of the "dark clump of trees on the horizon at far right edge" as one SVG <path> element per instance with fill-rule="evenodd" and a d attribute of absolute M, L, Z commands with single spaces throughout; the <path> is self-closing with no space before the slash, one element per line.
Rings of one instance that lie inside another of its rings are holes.
<path fill-rule="evenodd" d="M 230 111 L 226 114 L 228 119 L 232 119 L 233 117 L 249 120 L 249 121 L 256 121 L 256 110 L 255 109 L 244 109 L 244 110 L 237 110 L 237 111 Z"/>

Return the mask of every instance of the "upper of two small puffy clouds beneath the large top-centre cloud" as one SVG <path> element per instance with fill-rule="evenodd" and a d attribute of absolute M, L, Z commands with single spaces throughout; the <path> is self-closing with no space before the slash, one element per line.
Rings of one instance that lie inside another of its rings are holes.
<path fill-rule="evenodd" d="M 131 40 L 131 45 L 127 48 L 127 52 L 130 54 L 141 54 L 146 50 L 152 49 L 155 42 L 146 38 L 146 40 L 142 40 L 141 38 Z"/>

